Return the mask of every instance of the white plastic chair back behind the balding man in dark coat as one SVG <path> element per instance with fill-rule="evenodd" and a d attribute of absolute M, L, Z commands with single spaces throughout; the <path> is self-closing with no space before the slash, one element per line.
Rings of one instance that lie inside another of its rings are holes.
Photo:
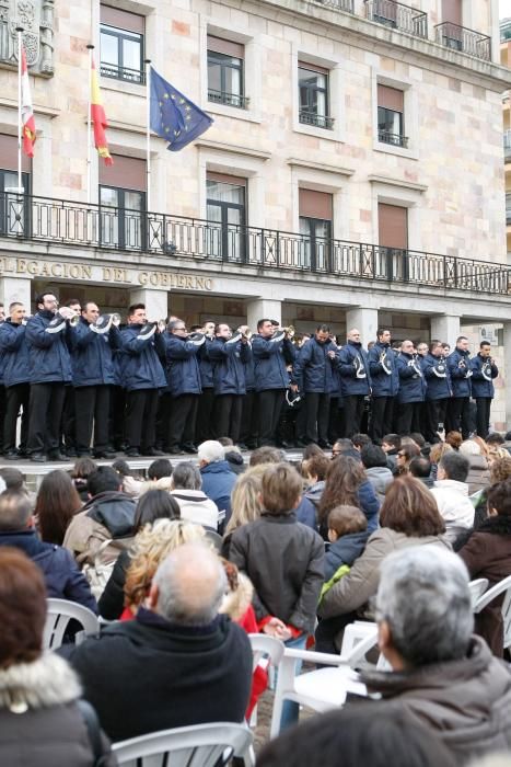
<path fill-rule="evenodd" d="M 252 741 L 244 724 L 214 722 L 132 737 L 115 743 L 113 752 L 118 764 L 126 766 L 220 767 L 233 756 L 244 757 Z"/>

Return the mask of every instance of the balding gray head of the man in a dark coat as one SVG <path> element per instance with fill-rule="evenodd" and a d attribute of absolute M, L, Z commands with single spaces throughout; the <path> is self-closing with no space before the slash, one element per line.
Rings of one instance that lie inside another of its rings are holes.
<path fill-rule="evenodd" d="M 218 615 L 228 589 L 218 556 L 204 543 L 184 543 L 166 557 L 153 583 L 159 588 L 156 613 L 172 623 L 207 626 Z"/>

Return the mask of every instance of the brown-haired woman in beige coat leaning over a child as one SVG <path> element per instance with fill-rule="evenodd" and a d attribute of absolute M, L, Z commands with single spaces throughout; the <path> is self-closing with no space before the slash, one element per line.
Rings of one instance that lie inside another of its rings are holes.
<path fill-rule="evenodd" d="M 413 477 L 399 477 L 388 486 L 380 510 L 380 529 L 373 533 L 349 573 L 325 594 L 318 615 L 316 650 L 337 652 L 336 634 L 360 617 L 372 615 L 369 599 L 376 594 L 380 565 L 387 554 L 407 546 L 442 546 L 445 525 L 430 491 Z"/>

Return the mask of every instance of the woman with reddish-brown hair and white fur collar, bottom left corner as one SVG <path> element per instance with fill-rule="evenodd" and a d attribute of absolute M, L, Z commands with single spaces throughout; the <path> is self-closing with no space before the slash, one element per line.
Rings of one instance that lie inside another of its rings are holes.
<path fill-rule="evenodd" d="M 0 549 L 0 764 L 93 767 L 96 758 L 77 705 L 80 683 L 67 661 L 43 653 L 46 587 L 25 554 Z M 105 767 L 116 758 L 98 731 Z"/>

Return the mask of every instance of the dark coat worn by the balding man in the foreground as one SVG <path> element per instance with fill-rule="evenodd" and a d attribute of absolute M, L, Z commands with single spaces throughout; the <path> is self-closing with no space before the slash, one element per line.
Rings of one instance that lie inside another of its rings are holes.
<path fill-rule="evenodd" d="M 58 652 L 80 674 L 84 697 L 113 741 L 244 720 L 251 644 L 227 616 L 186 627 L 141 607 L 135 620 Z"/>

